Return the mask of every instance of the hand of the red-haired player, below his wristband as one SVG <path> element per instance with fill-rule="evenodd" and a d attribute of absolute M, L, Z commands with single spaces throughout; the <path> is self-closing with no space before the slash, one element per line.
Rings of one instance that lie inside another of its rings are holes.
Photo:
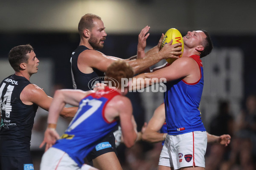
<path fill-rule="evenodd" d="M 55 144 L 56 140 L 58 140 L 60 136 L 58 135 L 57 131 L 54 128 L 47 128 L 44 132 L 44 141 L 40 144 L 40 148 L 45 146 L 45 152 Z"/>

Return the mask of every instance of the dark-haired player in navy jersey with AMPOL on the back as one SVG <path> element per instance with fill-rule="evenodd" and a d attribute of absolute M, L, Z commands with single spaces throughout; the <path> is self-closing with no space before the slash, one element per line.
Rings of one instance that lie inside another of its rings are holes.
<path fill-rule="evenodd" d="M 31 45 L 9 52 L 15 74 L 0 84 L 0 170 L 33 170 L 30 155 L 31 130 L 38 106 L 48 110 L 52 98 L 29 78 L 38 72 L 39 60 Z M 63 116 L 73 117 L 77 108 L 65 108 Z"/>

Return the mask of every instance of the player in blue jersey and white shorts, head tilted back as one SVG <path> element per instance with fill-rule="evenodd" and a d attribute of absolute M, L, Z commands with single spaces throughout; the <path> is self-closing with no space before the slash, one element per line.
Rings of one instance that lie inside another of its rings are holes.
<path fill-rule="evenodd" d="M 212 41 L 207 31 L 202 30 L 189 31 L 183 42 L 182 57 L 171 65 L 135 77 L 145 79 L 144 87 L 151 85 L 152 78 L 166 79 L 164 103 L 168 134 L 160 155 L 159 170 L 205 169 L 207 133 L 198 110 L 204 86 L 200 58 L 212 51 Z"/>

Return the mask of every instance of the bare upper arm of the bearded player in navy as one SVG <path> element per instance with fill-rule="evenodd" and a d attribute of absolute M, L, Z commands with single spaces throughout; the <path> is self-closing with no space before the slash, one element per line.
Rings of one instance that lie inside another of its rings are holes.
<path fill-rule="evenodd" d="M 85 50 L 79 55 L 80 57 L 81 59 L 78 62 L 80 62 L 81 66 L 86 64 L 88 67 L 96 68 L 103 72 L 107 71 L 108 66 L 118 59 L 116 57 L 108 57 L 96 50 Z"/>

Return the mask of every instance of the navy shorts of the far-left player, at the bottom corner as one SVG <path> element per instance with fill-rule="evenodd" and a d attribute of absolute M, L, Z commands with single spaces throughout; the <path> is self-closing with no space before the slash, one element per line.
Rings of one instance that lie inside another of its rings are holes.
<path fill-rule="evenodd" d="M 31 156 L 0 156 L 0 170 L 34 170 Z"/>

